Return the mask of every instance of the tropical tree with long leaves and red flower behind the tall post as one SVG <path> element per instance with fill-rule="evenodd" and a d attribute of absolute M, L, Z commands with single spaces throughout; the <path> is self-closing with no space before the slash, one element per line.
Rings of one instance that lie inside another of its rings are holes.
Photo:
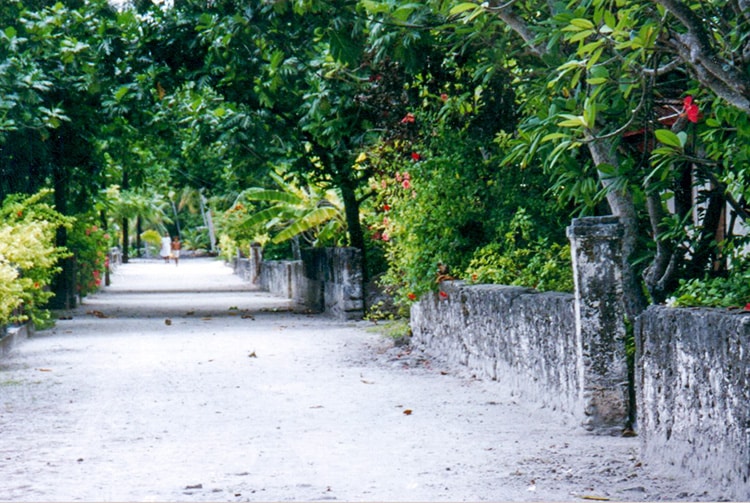
<path fill-rule="evenodd" d="M 523 42 L 511 54 L 526 119 L 509 162 L 544 163 L 559 197 L 620 217 L 631 316 L 646 303 L 640 270 L 658 302 L 679 277 L 711 267 L 716 251 L 706 248 L 716 250 L 724 202 L 747 214 L 741 184 L 726 183 L 744 168 L 721 151 L 746 155 L 749 42 L 741 2 L 464 2 L 451 12 L 467 30 L 487 27 L 486 34 L 513 33 Z M 657 141 L 663 146 L 654 151 Z M 675 154 L 668 162 L 664 148 Z M 691 215 L 695 226 L 685 224 Z"/>

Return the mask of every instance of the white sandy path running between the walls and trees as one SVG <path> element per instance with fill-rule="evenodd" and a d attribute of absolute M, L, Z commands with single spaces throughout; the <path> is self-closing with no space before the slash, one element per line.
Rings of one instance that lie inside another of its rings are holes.
<path fill-rule="evenodd" d="M 288 308 L 221 262 L 122 266 L 0 360 L 0 500 L 721 498 L 652 476 L 635 438 Z"/>

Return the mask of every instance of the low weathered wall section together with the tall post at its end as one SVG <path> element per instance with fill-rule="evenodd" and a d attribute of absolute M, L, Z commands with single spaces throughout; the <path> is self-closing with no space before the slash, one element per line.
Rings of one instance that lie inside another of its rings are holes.
<path fill-rule="evenodd" d="M 622 227 L 615 217 L 580 218 L 568 236 L 575 295 L 443 283 L 412 308 L 414 340 L 589 431 L 620 434 L 631 417 Z"/>

